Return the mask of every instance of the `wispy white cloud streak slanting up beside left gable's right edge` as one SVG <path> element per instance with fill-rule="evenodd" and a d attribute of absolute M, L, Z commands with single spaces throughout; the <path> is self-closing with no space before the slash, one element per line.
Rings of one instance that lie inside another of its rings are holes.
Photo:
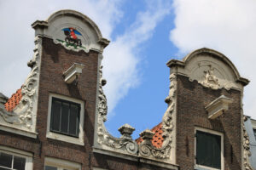
<path fill-rule="evenodd" d="M 139 12 L 137 19 L 124 35 L 119 36 L 105 49 L 103 77 L 108 80 L 106 94 L 110 117 L 114 115 L 113 109 L 119 100 L 139 83 L 137 65 L 142 59 L 139 57 L 139 50 L 142 43 L 153 35 L 160 20 L 170 13 L 171 5 L 166 1 L 147 1 L 146 10 Z"/>

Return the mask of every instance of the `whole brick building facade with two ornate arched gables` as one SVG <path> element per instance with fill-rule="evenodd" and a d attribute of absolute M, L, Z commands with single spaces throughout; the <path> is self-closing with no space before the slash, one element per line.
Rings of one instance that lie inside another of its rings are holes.
<path fill-rule="evenodd" d="M 224 54 L 201 48 L 170 60 L 163 121 L 137 140 L 125 124 L 117 139 L 104 127 L 109 41 L 73 10 L 32 27 L 32 71 L 10 99 L 0 95 L 0 169 L 253 169 L 242 113 L 249 81 Z"/>

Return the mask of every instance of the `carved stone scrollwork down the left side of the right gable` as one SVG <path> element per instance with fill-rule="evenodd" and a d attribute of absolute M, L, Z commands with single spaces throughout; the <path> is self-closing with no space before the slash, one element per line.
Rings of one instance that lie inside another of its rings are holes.
<path fill-rule="evenodd" d="M 162 119 L 162 129 L 163 129 L 163 138 L 164 142 L 161 148 L 156 148 L 151 143 L 152 137 L 148 135 L 149 132 L 144 131 L 141 133 L 143 138 L 143 142 L 139 145 L 139 154 L 145 157 L 151 157 L 156 159 L 169 159 L 170 153 L 172 150 L 172 130 L 173 130 L 173 120 L 172 116 L 175 114 L 176 111 L 176 89 L 177 89 L 177 77 L 175 74 L 171 74 L 170 76 L 171 86 L 169 91 L 169 96 L 166 98 L 166 102 L 168 103 L 168 108 L 166 110 L 165 115 Z M 152 133 L 152 132 L 151 132 Z M 147 137 L 148 136 L 148 137 Z"/>

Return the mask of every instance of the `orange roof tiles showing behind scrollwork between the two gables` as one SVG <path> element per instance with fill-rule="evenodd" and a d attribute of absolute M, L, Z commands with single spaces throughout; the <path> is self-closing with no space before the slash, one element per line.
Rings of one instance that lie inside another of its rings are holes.
<path fill-rule="evenodd" d="M 153 139 L 151 140 L 152 144 L 154 145 L 154 147 L 156 148 L 160 148 L 163 144 L 163 130 L 162 130 L 162 122 L 160 122 L 157 126 L 153 127 L 151 129 L 152 132 L 154 132 L 154 136 Z M 142 138 L 138 138 L 136 139 L 137 144 L 141 144 L 143 142 Z"/>

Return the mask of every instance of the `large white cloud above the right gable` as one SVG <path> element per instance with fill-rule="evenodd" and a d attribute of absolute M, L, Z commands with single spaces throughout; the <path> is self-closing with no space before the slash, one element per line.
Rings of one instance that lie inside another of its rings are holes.
<path fill-rule="evenodd" d="M 256 118 L 256 1 L 174 0 L 175 28 L 170 39 L 180 54 L 196 48 L 214 48 L 228 56 L 242 77 L 244 113 Z"/>

